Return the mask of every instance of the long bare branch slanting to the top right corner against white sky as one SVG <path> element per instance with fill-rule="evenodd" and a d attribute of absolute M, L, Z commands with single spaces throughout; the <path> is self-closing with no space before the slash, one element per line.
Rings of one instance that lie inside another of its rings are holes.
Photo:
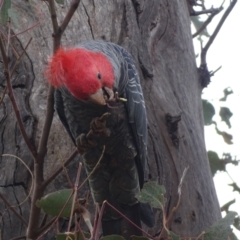
<path fill-rule="evenodd" d="M 205 47 L 202 49 L 201 52 L 201 65 L 204 66 L 207 64 L 206 61 L 206 55 L 207 55 L 207 51 L 209 49 L 209 47 L 211 46 L 211 44 L 213 43 L 214 39 L 216 38 L 218 32 L 220 31 L 223 23 L 225 22 L 225 20 L 227 19 L 228 15 L 230 14 L 230 12 L 232 11 L 232 9 L 234 8 L 235 4 L 237 3 L 237 0 L 232 0 L 229 7 L 227 8 L 227 10 L 225 11 L 225 13 L 223 14 L 221 20 L 219 21 L 216 29 L 214 30 L 213 34 L 211 35 L 211 37 L 209 38 L 207 44 L 205 45 Z"/>

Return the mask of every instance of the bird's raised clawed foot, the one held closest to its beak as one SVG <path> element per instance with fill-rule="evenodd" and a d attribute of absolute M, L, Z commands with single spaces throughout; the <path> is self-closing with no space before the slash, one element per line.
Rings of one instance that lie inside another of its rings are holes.
<path fill-rule="evenodd" d="M 101 117 L 96 117 L 90 123 L 90 129 L 92 133 L 96 136 L 109 137 L 111 132 L 106 126 L 107 118 L 110 116 L 110 113 L 104 113 Z"/>

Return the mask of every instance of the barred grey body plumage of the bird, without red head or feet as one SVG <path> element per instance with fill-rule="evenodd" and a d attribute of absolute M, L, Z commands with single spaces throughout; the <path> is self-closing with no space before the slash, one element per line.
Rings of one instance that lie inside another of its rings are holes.
<path fill-rule="evenodd" d="M 120 97 L 126 98 L 127 102 L 116 103 L 117 107 L 99 106 L 80 101 L 65 87 L 61 87 L 55 92 L 57 113 L 75 144 L 80 134 L 88 133 L 92 119 L 102 116 L 105 112 L 111 113 L 107 119 L 111 136 L 97 138 L 98 145 L 83 155 L 89 173 L 101 155 L 102 146 L 106 146 L 100 167 L 89 179 L 93 198 L 99 204 L 108 200 L 139 226 L 140 214 L 141 220 L 152 226 L 154 220 L 149 206 L 142 205 L 139 209 L 135 198 L 135 194 L 144 183 L 147 117 L 133 58 L 124 48 L 109 42 L 89 41 L 78 45 L 77 48 L 101 52 L 109 59 L 115 75 L 114 91 L 117 91 Z M 132 234 L 140 234 L 109 208 L 103 216 L 102 226 L 104 235 L 123 234 L 129 239 Z"/>

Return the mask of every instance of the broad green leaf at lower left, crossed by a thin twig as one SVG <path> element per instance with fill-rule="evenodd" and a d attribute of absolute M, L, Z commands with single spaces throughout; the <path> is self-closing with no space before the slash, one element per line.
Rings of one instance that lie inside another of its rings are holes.
<path fill-rule="evenodd" d="M 51 216 L 58 216 L 61 210 L 63 209 L 65 203 L 71 196 L 73 190 L 72 189 L 62 189 L 57 192 L 49 193 L 44 196 L 40 200 L 36 202 L 36 205 L 39 208 Z M 69 217 L 72 208 L 73 197 L 70 198 L 68 203 L 66 204 L 64 210 L 62 211 L 60 217 Z"/>

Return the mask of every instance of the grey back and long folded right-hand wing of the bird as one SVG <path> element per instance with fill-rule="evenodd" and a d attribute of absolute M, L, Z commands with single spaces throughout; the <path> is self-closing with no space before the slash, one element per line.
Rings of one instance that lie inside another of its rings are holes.
<path fill-rule="evenodd" d="M 147 153 L 147 115 L 140 79 L 132 56 L 122 47 L 111 42 L 88 41 L 78 47 L 102 52 L 111 61 L 115 73 L 114 87 L 120 96 L 127 99 L 129 123 L 139 154 L 140 186 L 144 183 Z"/>

